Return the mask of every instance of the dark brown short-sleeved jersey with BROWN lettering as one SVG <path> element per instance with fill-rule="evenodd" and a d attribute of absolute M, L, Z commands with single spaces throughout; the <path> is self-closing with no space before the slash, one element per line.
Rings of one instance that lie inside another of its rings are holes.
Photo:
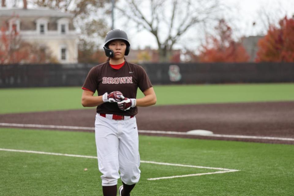
<path fill-rule="evenodd" d="M 91 90 L 98 95 L 120 91 L 126 98 L 136 98 L 138 87 L 142 92 L 152 87 L 152 84 L 145 70 L 136 64 L 128 63 L 120 69 L 113 69 L 109 61 L 93 67 L 85 80 L 83 89 Z M 117 103 L 106 102 L 97 106 L 97 113 L 108 113 L 116 115 L 132 116 L 138 113 L 138 108 L 133 107 L 130 110 L 120 110 Z"/>

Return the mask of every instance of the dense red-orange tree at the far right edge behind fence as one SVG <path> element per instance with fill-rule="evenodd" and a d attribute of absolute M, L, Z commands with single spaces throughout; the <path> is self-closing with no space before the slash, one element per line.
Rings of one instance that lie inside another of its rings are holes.
<path fill-rule="evenodd" d="M 294 62 L 294 19 L 284 17 L 258 41 L 256 62 Z"/>

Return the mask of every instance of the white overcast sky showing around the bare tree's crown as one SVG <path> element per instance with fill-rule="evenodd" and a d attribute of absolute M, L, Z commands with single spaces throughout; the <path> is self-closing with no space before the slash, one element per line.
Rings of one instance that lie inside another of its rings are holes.
<path fill-rule="evenodd" d="M 266 33 L 266 28 L 262 21 L 265 21 L 260 17 L 260 12 L 265 12 L 271 17 L 270 19 L 277 22 L 279 18 L 287 15 L 292 17 L 294 14 L 294 0 L 220 0 L 226 6 L 232 8 L 229 12 L 224 13 L 223 17 L 229 20 L 234 30 L 235 38 L 245 36 L 262 35 Z M 115 28 L 125 30 L 132 44 L 132 48 L 144 48 L 150 46 L 156 49 L 157 44 L 154 36 L 146 30 L 137 32 L 135 29 L 126 29 L 126 27 L 119 20 L 118 12 L 116 14 Z M 252 25 L 253 22 L 256 25 Z M 187 33 L 180 44 L 176 44 L 175 48 L 183 48 L 183 44 L 187 45 L 190 49 L 195 49 L 203 40 L 204 35 L 198 32 L 198 37 L 192 33 Z M 192 40 L 190 42 L 190 40 Z"/>

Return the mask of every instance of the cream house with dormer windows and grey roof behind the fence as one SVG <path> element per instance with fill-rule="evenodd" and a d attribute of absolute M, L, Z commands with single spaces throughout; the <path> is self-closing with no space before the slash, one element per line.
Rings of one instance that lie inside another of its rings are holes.
<path fill-rule="evenodd" d="M 74 15 L 49 8 L 0 8 L 0 26 L 14 28 L 21 39 L 47 46 L 60 63 L 77 63 L 78 36 L 73 25 Z"/>

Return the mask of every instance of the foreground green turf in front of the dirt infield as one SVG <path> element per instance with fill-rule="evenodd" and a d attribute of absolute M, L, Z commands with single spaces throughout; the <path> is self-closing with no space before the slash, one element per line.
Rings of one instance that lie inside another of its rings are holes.
<path fill-rule="evenodd" d="M 0 148 L 96 156 L 93 133 L 1 128 L 0 135 Z M 141 163 L 141 180 L 133 195 L 292 195 L 294 191 L 294 145 L 154 136 L 139 140 L 141 160 L 240 171 L 149 181 L 215 170 Z M 0 160 L 0 195 L 102 195 L 96 159 L 0 151 Z"/>

